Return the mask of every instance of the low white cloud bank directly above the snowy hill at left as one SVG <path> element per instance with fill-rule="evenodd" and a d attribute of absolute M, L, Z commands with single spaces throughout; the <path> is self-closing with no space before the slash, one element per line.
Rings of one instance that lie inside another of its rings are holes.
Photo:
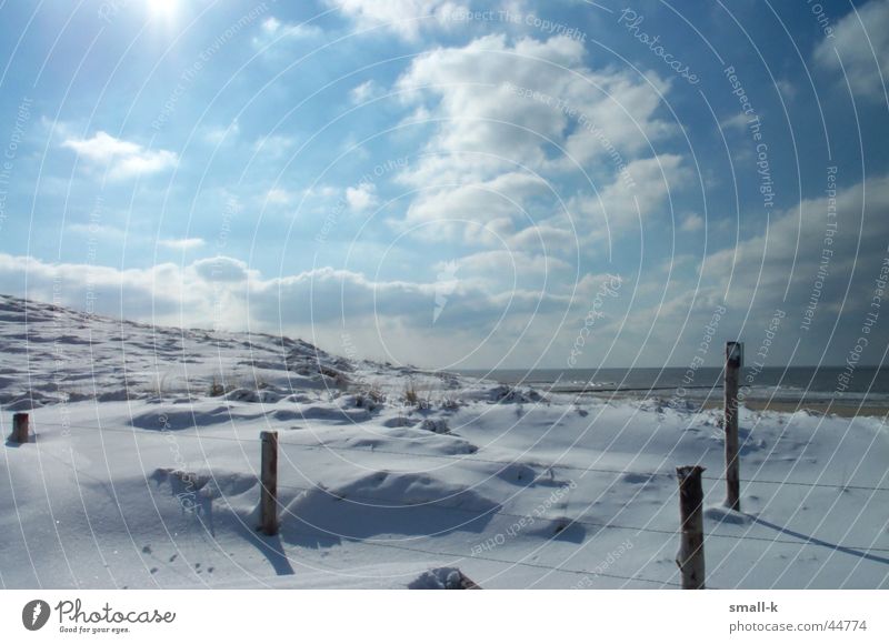
<path fill-rule="evenodd" d="M 96 312 L 157 324 L 282 331 L 340 352 L 341 333 L 348 332 L 361 339 L 363 353 L 382 355 L 379 331 L 400 358 L 422 355 L 426 363 L 430 343 L 441 343 L 442 359 L 452 360 L 457 339 L 471 348 L 490 332 L 511 342 L 513 326 L 570 305 L 568 299 L 521 286 L 493 294 L 459 280 L 453 286 L 432 328 L 434 282 L 372 281 L 330 266 L 264 279 L 227 256 L 118 270 L 0 253 L 3 293 L 80 309 L 94 300 Z M 509 319 L 501 321 L 505 312 Z"/>

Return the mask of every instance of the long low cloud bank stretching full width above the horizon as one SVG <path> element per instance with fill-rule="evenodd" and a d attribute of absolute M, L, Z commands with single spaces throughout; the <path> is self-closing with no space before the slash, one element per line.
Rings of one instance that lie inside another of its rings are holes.
<path fill-rule="evenodd" d="M 659 292 L 652 291 L 651 280 L 637 289 L 633 275 L 622 275 L 620 296 L 609 300 L 607 318 L 597 324 L 597 348 L 588 355 L 592 360 L 613 341 L 625 358 L 641 351 L 646 364 L 677 364 L 675 348 L 681 353 L 682 346 L 697 345 L 716 306 L 725 304 L 731 313 L 719 326 L 722 338 L 738 336 L 755 350 L 780 308 L 787 319 L 775 339 L 773 361 L 787 360 L 800 338 L 798 363 L 816 363 L 822 352 L 841 361 L 861 334 L 883 262 L 889 261 L 889 219 L 883 217 L 889 212 L 889 177 L 868 180 L 867 190 L 857 184 L 838 193 L 835 234 L 826 232 L 831 208 L 827 198 L 817 198 L 777 212 L 768 234 L 715 250 L 702 259 L 699 274 L 672 275 L 669 282 L 665 276 Z M 263 276 L 226 256 L 184 266 L 118 270 L 0 253 L 0 292 L 26 294 L 27 275 L 27 294 L 36 299 L 60 296 L 62 303 L 83 309 L 92 293 L 99 312 L 161 324 L 282 331 L 340 352 L 341 335 L 348 333 L 362 353 L 386 356 L 391 350 L 404 359 L 421 355 L 426 364 L 448 364 L 482 344 L 472 364 L 492 364 L 505 355 L 513 364 L 529 364 L 555 338 L 547 358 L 553 364 L 558 348 L 573 341 L 601 282 L 596 275 L 577 275 L 570 262 L 515 249 L 451 261 L 453 270 L 447 272 L 452 283 L 434 326 L 434 281 L 371 280 L 330 266 Z M 548 280 L 556 273 L 559 279 Z M 800 323 L 815 293 L 811 331 L 805 332 Z M 869 334 L 866 362 L 879 361 L 889 340 L 881 319 Z"/>

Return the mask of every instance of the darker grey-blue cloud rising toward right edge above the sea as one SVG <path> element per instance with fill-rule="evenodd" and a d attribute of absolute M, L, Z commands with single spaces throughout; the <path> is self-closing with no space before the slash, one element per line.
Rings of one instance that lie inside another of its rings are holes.
<path fill-rule="evenodd" d="M 832 209 L 827 197 L 807 199 L 773 213 L 762 234 L 702 258 L 681 255 L 643 268 L 641 275 L 623 275 L 621 296 L 613 305 L 632 300 L 631 308 L 620 311 L 626 323 L 598 330 L 615 340 L 615 352 L 625 363 L 686 365 L 713 312 L 725 306 L 719 344 L 711 344 L 707 354 L 710 363 L 717 363 L 721 340 L 737 338 L 747 343 L 751 362 L 762 360 L 756 353 L 768 340 L 768 366 L 791 359 L 798 365 L 841 364 L 861 336 L 868 342 L 861 364 L 885 362 L 889 177 L 839 191 Z M 690 272 L 692 265 L 698 270 Z M 638 286 L 637 278 L 642 280 Z M 782 322 L 769 336 L 777 311 Z M 862 331 L 873 313 L 877 323 Z M 615 324 L 622 321 L 615 315 Z"/>

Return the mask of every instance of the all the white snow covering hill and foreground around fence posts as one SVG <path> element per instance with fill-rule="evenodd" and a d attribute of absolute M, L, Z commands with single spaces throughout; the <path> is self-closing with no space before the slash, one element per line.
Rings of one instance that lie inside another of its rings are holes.
<path fill-rule="evenodd" d="M 742 409 L 737 513 L 719 413 L 681 402 L 8 296 L 0 348 L 0 430 L 26 410 L 34 433 L 0 459 L 3 587 L 675 587 L 688 464 L 707 467 L 709 586 L 889 585 L 882 419 Z M 274 537 L 257 531 L 269 430 Z"/>

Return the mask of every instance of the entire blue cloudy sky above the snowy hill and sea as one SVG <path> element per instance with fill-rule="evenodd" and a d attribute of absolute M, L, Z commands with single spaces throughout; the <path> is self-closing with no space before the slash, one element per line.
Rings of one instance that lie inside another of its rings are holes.
<path fill-rule="evenodd" d="M 7 0 L 0 32 L 0 292 L 436 369 L 886 360 L 887 0 Z"/>

